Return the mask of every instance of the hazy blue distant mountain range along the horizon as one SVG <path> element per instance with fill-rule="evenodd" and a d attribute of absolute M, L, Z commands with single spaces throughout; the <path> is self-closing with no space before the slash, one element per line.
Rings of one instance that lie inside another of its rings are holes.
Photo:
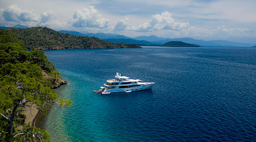
<path fill-rule="evenodd" d="M 156 37 L 155 35 L 130 38 L 124 35 L 110 34 L 110 33 L 83 34 L 75 31 L 59 31 L 59 32 L 68 33 L 68 34 L 77 35 L 77 36 L 81 35 L 81 36 L 88 36 L 88 37 L 97 37 L 113 43 L 134 43 L 138 45 L 162 45 L 171 41 L 179 41 L 179 42 L 189 43 L 189 44 L 198 45 L 202 47 L 251 47 L 251 46 L 254 46 L 254 44 L 229 42 L 227 40 L 202 40 L 202 39 L 198 40 L 193 38 L 159 38 L 159 37 Z"/>

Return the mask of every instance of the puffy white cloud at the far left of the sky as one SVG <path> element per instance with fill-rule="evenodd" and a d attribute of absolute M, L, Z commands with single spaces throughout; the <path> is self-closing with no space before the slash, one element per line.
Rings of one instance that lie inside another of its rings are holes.
<path fill-rule="evenodd" d="M 38 21 L 38 16 L 34 14 L 34 11 L 21 10 L 18 5 L 10 5 L 3 10 L 3 17 L 5 21 L 15 22 L 27 22 L 27 21 Z"/>

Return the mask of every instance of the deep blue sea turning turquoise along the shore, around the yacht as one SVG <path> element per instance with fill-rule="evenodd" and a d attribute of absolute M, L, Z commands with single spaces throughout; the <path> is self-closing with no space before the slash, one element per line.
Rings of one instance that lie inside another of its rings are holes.
<path fill-rule="evenodd" d="M 73 101 L 41 121 L 53 141 L 256 141 L 256 48 L 44 51 Z M 152 90 L 98 94 L 115 73 Z"/>

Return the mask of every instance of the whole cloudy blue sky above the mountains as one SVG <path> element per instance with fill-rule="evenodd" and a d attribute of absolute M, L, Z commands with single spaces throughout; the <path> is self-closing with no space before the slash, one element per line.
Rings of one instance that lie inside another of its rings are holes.
<path fill-rule="evenodd" d="M 256 44 L 255 0 L 0 0 L 0 26 Z"/>

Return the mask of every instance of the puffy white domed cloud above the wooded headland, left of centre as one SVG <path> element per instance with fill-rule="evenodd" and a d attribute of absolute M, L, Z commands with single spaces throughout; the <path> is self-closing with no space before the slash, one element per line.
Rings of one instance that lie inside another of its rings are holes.
<path fill-rule="evenodd" d="M 72 18 L 73 27 L 91 27 L 91 28 L 107 28 L 109 20 L 97 13 L 94 6 L 76 10 Z"/>

